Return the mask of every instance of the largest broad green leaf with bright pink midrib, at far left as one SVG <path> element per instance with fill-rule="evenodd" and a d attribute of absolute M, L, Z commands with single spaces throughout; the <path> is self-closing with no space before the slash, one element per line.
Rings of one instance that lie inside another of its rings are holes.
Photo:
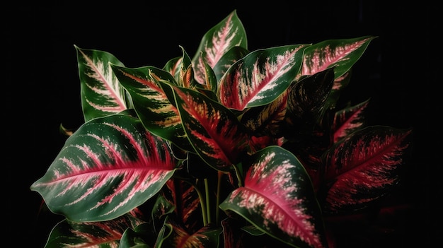
<path fill-rule="evenodd" d="M 82 125 L 30 189 L 69 220 L 110 220 L 154 196 L 177 163 L 139 119 L 115 114 Z"/>

